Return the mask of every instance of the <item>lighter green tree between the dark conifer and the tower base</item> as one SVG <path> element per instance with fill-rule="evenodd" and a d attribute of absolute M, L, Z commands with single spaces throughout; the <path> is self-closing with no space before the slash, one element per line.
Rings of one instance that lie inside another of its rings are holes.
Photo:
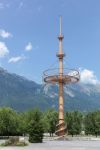
<path fill-rule="evenodd" d="M 58 113 L 55 110 L 50 109 L 44 113 L 44 129 L 45 132 L 48 132 L 50 134 L 50 136 L 53 136 L 53 133 L 55 133 L 57 121 Z"/>

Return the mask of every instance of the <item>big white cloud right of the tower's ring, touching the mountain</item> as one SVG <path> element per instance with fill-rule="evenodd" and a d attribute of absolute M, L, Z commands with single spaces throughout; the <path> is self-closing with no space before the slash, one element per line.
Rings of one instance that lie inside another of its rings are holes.
<path fill-rule="evenodd" d="M 81 69 L 81 82 L 84 84 L 97 84 L 99 81 L 92 70 Z"/>

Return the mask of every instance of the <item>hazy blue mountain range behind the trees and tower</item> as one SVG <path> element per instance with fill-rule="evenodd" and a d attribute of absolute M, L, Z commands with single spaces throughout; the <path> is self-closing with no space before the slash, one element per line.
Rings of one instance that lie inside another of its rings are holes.
<path fill-rule="evenodd" d="M 17 111 L 31 108 L 58 109 L 58 86 L 40 85 L 0 68 L 0 106 Z M 74 84 L 64 87 L 64 109 L 100 109 L 100 84 Z"/>

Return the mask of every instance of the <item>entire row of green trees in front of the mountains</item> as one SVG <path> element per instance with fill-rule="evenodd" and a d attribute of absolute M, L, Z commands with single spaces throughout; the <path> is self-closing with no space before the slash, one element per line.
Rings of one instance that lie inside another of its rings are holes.
<path fill-rule="evenodd" d="M 0 108 L 0 136 L 29 135 L 30 142 L 42 142 L 43 133 L 53 136 L 58 122 L 58 113 L 49 109 L 41 112 L 39 109 L 27 112 L 16 112 L 11 108 Z M 65 125 L 67 134 L 100 135 L 100 111 L 66 112 Z"/>

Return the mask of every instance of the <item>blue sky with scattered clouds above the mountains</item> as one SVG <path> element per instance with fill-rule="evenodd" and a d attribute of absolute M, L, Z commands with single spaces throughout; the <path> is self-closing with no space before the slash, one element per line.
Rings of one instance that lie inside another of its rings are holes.
<path fill-rule="evenodd" d="M 100 0 L 0 0 L 0 66 L 42 83 L 58 67 L 62 16 L 65 68 L 85 83 L 100 81 Z"/>

